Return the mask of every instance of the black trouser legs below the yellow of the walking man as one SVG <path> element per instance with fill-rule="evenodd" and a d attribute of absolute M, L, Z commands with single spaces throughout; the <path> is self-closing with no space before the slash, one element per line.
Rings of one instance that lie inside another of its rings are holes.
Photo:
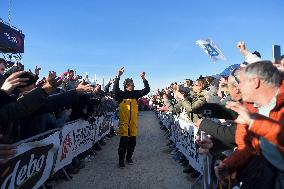
<path fill-rule="evenodd" d="M 119 161 L 124 161 L 125 155 L 126 159 L 131 159 L 135 146 L 136 146 L 136 136 L 120 137 L 120 142 L 118 147 Z"/>

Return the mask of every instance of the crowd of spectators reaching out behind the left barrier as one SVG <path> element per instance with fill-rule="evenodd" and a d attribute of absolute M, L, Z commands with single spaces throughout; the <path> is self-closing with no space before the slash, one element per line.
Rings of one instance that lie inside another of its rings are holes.
<path fill-rule="evenodd" d="M 62 128 L 66 122 L 79 118 L 92 122 L 94 117 L 106 112 L 116 112 L 117 103 L 110 90 L 113 80 L 102 89 L 73 70 L 61 76 L 50 71 L 39 80 L 40 68 L 24 71 L 15 63 L 8 66 L 0 59 L 0 164 L 16 154 L 19 141 L 49 130 Z M 67 166 L 68 173 L 78 173 L 86 158 L 102 150 L 105 140 L 115 136 L 115 129 L 94 144 L 92 153 L 87 151 L 73 159 Z M 60 172 L 59 172 L 60 174 Z"/>

